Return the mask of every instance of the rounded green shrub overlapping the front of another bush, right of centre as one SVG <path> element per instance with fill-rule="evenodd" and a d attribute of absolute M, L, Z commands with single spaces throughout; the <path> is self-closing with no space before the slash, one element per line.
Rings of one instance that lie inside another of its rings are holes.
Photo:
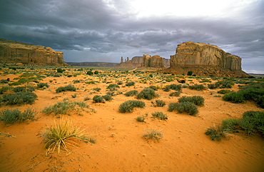
<path fill-rule="evenodd" d="M 191 116 L 196 115 L 196 113 L 198 113 L 197 106 L 190 102 L 169 103 L 168 111 L 174 110 L 177 110 L 179 113 L 187 112 Z"/>

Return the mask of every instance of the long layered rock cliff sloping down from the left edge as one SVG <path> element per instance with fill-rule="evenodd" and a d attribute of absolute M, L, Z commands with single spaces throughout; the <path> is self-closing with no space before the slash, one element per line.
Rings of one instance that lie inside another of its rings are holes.
<path fill-rule="evenodd" d="M 1 63 L 62 65 L 64 53 L 50 47 L 0 39 Z"/>

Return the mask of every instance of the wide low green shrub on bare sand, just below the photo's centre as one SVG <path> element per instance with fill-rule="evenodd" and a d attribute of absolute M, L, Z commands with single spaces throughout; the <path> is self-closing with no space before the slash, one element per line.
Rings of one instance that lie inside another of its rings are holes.
<path fill-rule="evenodd" d="M 125 101 L 123 103 L 120 104 L 118 110 L 121 113 L 125 113 L 125 112 L 133 112 L 133 108 L 143 108 L 145 107 L 145 103 L 143 101 Z"/>

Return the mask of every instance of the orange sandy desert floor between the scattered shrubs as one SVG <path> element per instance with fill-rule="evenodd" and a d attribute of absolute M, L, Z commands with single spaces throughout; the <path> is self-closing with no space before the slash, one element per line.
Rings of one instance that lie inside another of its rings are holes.
<path fill-rule="evenodd" d="M 72 69 L 72 72 L 75 71 Z M 21 74 L 23 71 L 20 74 L 1 74 L 0 80 L 9 78 L 14 81 Z M 205 98 L 205 106 L 198 107 L 199 113 L 196 116 L 189 116 L 187 113 L 169 112 L 168 104 L 176 103 L 179 97 L 169 96 L 173 90 L 166 92 L 161 89 L 169 84 L 179 84 L 178 81 L 158 82 L 162 74 L 153 73 L 153 79 L 148 79 L 146 84 L 143 84 L 139 80 L 149 74 L 136 75 L 133 72 L 108 74 L 98 77 L 88 76 L 83 72 L 72 77 L 49 76 L 40 81 L 48 83 L 49 88 L 36 89 L 34 93 L 38 98 L 32 105 L 0 106 L 0 110 L 19 108 L 24 111 L 30 106 L 38 111 L 37 121 L 9 125 L 0 121 L 0 171 L 264 171 L 263 137 L 240 132 L 229 133 L 229 139 L 211 141 L 209 136 L 205 135 L 207 128 L 220 124 L 225 118 L 241 118 L 245 111 L 263 111 L 263 108 L 259 108 L 254 102 L 237 104 L 223 101 L 217 96 L 220 95 L 217 93 L 220 88 L 204 91 L 183 88 L 180 97 Z M 103 82 L 105 79 L 108 83 Z M 182 78 L 176 77 L 176 79 Z M 190 85 L 200 84 L 201 80 L 195 77 L 185 79 Z M 74 80 L 81 82 L 73 84 Z M 86 84 L 86 81 L 99 81 L 99 83 Z M 59 121 L 59 118 L 54 114 L 42 113 L 44 107 L 63 101 L 64 98 L 70 101 L 83 101 L 87 96 L 90 98 L 95 95 L 103 96 L 108 91 L 106 87 L 109 84 L 116 84 L 117 81 L 123 81 L 118 88 L 122 93 L 134 89 L 141 91 L 153 85 L 161 87 L 156 91 L 160 96 L 152 100 L 141 99 L 146 103 L 146 107 L 135 108 L 133 113 L 121 113 L 118 107 L 124 101 L 137 100 L 135 96 L 118 94 L 106 103 L 85 101 L 96 110 L 96 113 L 83 111 L 83 116 L 75 113 L 71 116 L 62 116 L 71 118 L 76 126 L 86 128 L 86 133 L 96 138 L 96 143 L 78 141 L 78 148 L 70 148 L 69 153 L 54 152 L 46 156 L 42 133 L 54 121 Z M 125 86 L 126 81 L 135 81 L 136 84 Z M 29 84 L 36 85 L 36 83 Z M 56 88 L 68 84 L 72 84 L 78 90 L 56 93 Z M 0 86 L 8 85 L 0 84 Z M 93 91 L 96 87 L 101 88 L 101 91 Z M 229 89 L 238 91 L 238 84 Z M 71 96 L 74 93 L 77 94 L 76 98 Z M 166 106 L 151 106 L 151 101 L 156 99 L 165 101 Z M 168 119 L 166 121 L 153 119 L 151 115 L 146 117 L 146 123 L 135 119 L 137 116 L 151 114 L 154 111 L 166 113 Z M 144 139 L 143 133 L 148 128 L 162 130 L 163 138 L 160 141 Z M 11 136 L 7 136 L 7 133 Z"/>

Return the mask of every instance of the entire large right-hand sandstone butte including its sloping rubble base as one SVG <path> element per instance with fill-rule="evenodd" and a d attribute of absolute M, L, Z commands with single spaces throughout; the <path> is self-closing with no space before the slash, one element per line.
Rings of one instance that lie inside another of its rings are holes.
<path fill-rule="evenodd" d="M 171 56 L 168 72 L 196 75 L 248 76 L 241 69 L 241 58 L 223 51 L 212 44 L 193 41 L 183 42 Z"/>

